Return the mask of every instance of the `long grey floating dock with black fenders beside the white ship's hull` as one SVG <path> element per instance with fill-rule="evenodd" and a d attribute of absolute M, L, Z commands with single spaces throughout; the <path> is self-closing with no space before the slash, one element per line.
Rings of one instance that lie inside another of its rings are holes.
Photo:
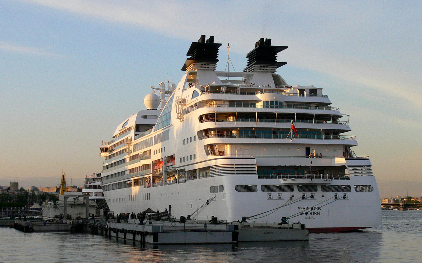
<path fill-rule="evenodd" d="M 139 225 L 90 222 L 84 232 L 140 241 L 142 244 L 231 244 L 245 241 L 308 241 L 308 230 L 301 224 L 214 224 L 208 222 L 154 222 Z"/>

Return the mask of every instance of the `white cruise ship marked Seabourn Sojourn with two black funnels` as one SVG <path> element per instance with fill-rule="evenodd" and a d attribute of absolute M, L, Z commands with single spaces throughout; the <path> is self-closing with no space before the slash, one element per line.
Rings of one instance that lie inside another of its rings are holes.
<path fill-rule="evenodd" d="M 222 72 L 221 45 L 205 35 L 193 42 L 180 82 L 152 87 L 146 109 L 99 147 L 110 210 L 301 222 L 311 232 L 380 225 L 370 159 L 352 150 L 356 136 L 344 135 L 349 115 L 322 88 L 291 86 L 276 73 L 287 46 L 261 38 L 243 72 Z"/>

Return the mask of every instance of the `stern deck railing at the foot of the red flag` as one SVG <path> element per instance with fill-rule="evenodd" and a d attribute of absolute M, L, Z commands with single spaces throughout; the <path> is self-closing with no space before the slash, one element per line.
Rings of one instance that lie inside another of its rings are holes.
<path fill-rule="evenodd" d="M 199 140 L 208 138 L 254 138 L 254 139 L 288 139 L 288 134 L 253 134 L 253 133 L 230 133 L 230 134 L 207 134 L 199 137 Z M 348 140 L 356 141 L 356 136 L 344 136 L 344 135 L 319 135 L 319 134 L 305 134 L 298 135 L 294 139 L 312 139 L 312 140 Z"/>

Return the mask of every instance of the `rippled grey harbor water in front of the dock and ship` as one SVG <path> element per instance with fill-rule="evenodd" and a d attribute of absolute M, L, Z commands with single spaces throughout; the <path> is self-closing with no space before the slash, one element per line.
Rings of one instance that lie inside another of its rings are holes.
<path fill-rule="evenodd" d="M 421 262 L 422 210 L 382 211 L 383 225 L 309 241 L 238 245 L 146 245 L 68 232 L 0 228 L 0 263 L 14 262 Z"/>

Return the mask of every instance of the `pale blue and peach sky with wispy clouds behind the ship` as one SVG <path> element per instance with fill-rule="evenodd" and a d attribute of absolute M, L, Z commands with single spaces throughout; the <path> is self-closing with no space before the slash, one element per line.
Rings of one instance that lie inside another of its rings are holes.
<path fill-rule="evenodd" d="M 419 1 L 0 1 L 0 185 L 99 173 L 101 141 L 214 35 L 220 71 L 228 43 L 232 71 L 260 38 L 289 46 L 277 73 L 350 115 L 380 196 L 419 197 L 421 13 Z"/>

